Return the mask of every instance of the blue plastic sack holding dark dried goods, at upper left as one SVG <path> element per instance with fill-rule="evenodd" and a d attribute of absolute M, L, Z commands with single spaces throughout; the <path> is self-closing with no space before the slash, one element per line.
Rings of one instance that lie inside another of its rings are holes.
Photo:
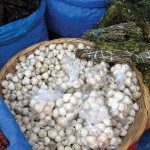
<path fill-rule="evenodd" d="M 0 69 L 19 51 L 48 40 L 45 8 L 45 0 L 42 0 L 39 9 L 29 17 L 0 27 Z"/>

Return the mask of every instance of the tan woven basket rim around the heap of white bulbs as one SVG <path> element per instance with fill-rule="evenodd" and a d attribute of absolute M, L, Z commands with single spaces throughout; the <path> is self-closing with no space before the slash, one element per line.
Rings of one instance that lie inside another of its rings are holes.
<path fill-rule="evenodd" d="M 14 73 L 15 72 L 15 66 L 19 62 L 18 58 L 20 56 L 29 55 L 33 53 L 40 45 L 48 46 L 49 44 L 61 44 L 61 43 L 72 43 L 74 45 L 78 43 L 84 43 L 88 46 L 94 46 L 94 43 L 82 40 L 82 39 L 74 39 L 74 38 L 62 38 L 62 39 L 56 39 L 46 42 L 41 42 L 36 45 L 33 45 L 29 48 L 26 48 L 25 50 L 19 52 L 16 54 L 11 60 L 8 61 L 8 63 L 4 66 L 2 71 L 0 72 L 0 81 L 5 79 L 5 76 L 8 72 Z M 133 144 L 143 133 L 145 130 L 145 126 L 147 123 L 148 118 L 150 117 L 150 95 L 148 88 L 144 85 L 142 75 L 140 72 L 133 68 L 134 71 L 137 74 L 137 78 L 139 80 L 139 84 L 141 87 L 142 96 L 138 100 L 138 105 L 140 107 L 140 110 L 137 112 L 135 121 L 132 123 L 128 130 L 127 136 L 123 139 L 122 144 L 117 148 L 117 150 L 127 150 L 128 147 Z M 0 94 L 2 95 L 2 87 L 0 85 Z"/>

